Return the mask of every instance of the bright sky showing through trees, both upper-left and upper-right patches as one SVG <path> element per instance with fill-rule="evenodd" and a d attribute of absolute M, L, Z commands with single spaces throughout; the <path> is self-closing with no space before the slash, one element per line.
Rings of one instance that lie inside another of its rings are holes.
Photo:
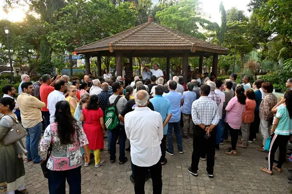
<path fill-rule="evenodd" d="M 219 4 L 223 2 L 225 10 L 228 10 L 232 7 L 237 9 L 244 10 L 247 16 L 250 16 L 250 13 L 247 11 L 247 4 L 250 0 L 201 0 L 203 11 L 211 14 L 211 21 L 221 24 L 221 15 L 219 12 Z M 0 19 L 8 19 L 10 21 L 19 21 L 22 20 L 25 16 L 25 11 L 27 7 L 19 7 L 11 10 L 8 14 L 2 12 L 2 5 L 4 0 L 0 0 Z"/>

